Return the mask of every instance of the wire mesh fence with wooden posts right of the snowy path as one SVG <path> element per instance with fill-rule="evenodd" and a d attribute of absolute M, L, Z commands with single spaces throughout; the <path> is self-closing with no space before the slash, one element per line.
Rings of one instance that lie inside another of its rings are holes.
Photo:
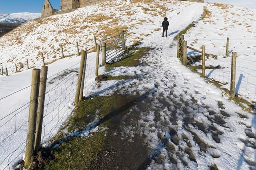
<path fill-rule="evenodd" d="M 180 37 L 180 41 L 181 37 Z M 202 65 L 202 45 L 205 46 L 208 55 L 205 61 L 206 78 L 211 78 L 230 90 L 232 52 L 237 52 L 236 58 L 236 86 L 235 93 L 252 104 L 256 104 L 256 39 L 185 39 L 189 48 L 188 57 L 198 57 L 196 61 L 190 61 L 194 66 Z M 183 42 L 180 42 L 180 54 Z M 191 59 L 191 58 L 190 58 Z M 194 58 L 193 58 L 194 59 Z M 202 72 L 202 70 L 198 70 Z"/>

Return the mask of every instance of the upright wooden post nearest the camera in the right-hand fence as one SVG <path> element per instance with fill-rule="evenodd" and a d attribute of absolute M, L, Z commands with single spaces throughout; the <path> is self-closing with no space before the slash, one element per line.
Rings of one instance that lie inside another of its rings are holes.
<path fill-rule="evenodd" d="M 235 95 L 236 95 L 235 89 L 236 89 L 236 52 L 232 52 L 230 99 L 235 98 Z"/>

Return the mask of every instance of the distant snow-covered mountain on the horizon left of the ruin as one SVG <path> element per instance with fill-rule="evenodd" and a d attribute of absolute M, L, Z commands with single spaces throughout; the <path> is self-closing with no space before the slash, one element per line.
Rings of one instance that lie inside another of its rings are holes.
<path fill-rule="evenodd" d="M 32 20 L 40 17 L 41 17 L 41 13 L 29 13 L 29 12 L 12 13 L 12 14 L 0 13 L 0 22 L 24 23 L 28 20 Z"/>

